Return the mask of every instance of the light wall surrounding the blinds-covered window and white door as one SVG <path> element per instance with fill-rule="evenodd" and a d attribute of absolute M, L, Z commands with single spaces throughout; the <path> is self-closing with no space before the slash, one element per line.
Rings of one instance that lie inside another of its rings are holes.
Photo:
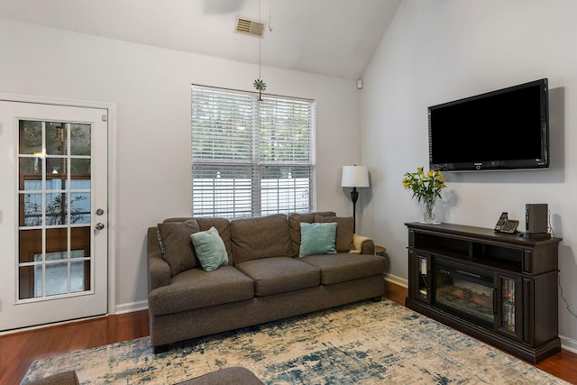
<path fill-rule="evenodd" d="M 0 47 L 0 93 L 115 104 L 116 310 L 146 306 L 146 228 L 190 215 L 190 84 L 253 90 L 257 67 L 7 21 Z M 317 208 L 352 215 L 340 178 L 360 160 L 356 83 L 271 68 L 262 78 L 271 94 L 316 100 Z"/>

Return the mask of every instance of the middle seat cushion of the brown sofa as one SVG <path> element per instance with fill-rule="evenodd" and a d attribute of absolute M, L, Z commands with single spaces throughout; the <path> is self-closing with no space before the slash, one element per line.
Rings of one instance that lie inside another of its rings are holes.
<path fill-rule="evenodd" d="M 257 297 L 312 288 L 320 283 L 318 268 L 289 257 L 243 261 L 236 268 L 254 280 Z"/>

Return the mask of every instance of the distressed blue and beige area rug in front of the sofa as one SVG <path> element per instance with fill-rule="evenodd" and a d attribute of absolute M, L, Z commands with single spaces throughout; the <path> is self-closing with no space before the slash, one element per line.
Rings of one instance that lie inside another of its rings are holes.
<path fill-rule="evenodd" d="M 148 337 L 32 362 L 23 383 L 74 369 L 82 384 L 170 384 L 244 366 L 267 384 L 565 384 L 389 300 L 363 301 L 175 344 Z"/>

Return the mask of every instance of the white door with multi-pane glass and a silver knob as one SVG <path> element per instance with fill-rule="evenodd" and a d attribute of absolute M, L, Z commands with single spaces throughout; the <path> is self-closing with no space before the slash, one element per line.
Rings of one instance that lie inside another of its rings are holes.
<path fill-rule="evenodd" d="M 0 101 L 0 331 L 107 312 L 106 114 Z"/>

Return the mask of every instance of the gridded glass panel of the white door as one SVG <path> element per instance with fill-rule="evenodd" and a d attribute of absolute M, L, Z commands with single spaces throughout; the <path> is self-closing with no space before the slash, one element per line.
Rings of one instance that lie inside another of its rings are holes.
<path fill-rule="evenodd" d="M 21 121 L 19 128 L 18 298 L 90 290 L 91 127 Z"/>

